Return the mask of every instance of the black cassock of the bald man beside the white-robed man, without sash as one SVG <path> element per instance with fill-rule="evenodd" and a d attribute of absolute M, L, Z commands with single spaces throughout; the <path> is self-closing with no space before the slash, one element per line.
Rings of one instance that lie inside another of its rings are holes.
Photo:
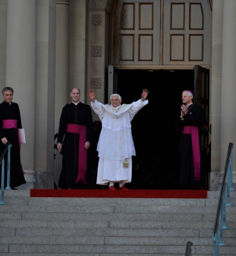
<path fill-rule="evenodd" d="M 58 142 L 62 143 L 61 154 L 63 154 L 62 170 L 59 177 L 59 188 L 76 188 L 75 184 L 79 170 L 79 136 L 80 134 L 67 132 L 67 124 L 86 126 L 86 141 L 91 141 L 92 116 L 90 106 L 79 102 L 67 104 L 62 109 L 59 122 Z M 65 138 L 63 140 L 65 134 Z"/>

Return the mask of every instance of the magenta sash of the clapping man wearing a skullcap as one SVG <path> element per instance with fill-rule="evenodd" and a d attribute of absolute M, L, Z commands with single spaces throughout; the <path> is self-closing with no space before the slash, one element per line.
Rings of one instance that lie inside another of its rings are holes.
<path fill-rule="evenodd" d="M 192 147 L 193 147 L 193 166 L 194 166 L 194 180 L 200 180 L 201 178 L 201 158 L 200 158 L 200 145 L 198 137 L 197 126 L 184 126 L 182 134 L 191 134 Z"/>

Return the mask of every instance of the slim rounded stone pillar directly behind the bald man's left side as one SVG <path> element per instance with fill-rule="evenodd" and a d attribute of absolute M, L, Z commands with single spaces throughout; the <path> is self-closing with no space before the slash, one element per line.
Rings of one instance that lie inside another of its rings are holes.
<path fill-rule="evenodd" d="M 58 0 L 56 2 L 55 134 L 58 132 L 61 109 L 68 103 L 69 65 L 69 1 Z M 54 179 L 58 185 L 62 157 L 58 150 L 55 150 L 55 154 Z"/>

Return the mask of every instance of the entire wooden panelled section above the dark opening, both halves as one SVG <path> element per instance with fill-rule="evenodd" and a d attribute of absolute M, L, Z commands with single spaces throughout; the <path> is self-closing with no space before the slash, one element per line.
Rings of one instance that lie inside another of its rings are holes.
<path fill-rule="evenodd" d="M 210 13 L 209 0 L 116 0 L 110 63 L 122 68 L 210 65 Z"/>

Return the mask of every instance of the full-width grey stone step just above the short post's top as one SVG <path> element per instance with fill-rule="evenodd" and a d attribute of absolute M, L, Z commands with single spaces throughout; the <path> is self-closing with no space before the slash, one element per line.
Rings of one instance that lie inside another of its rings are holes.
<path fill-rule="evenodd" d="M 213 228 L 1 228 L 1 236 L 91 236 L 91 237 L 208 237 Z M 235 238 L 236 229 L 224 230 L 224 237 Z"/>

